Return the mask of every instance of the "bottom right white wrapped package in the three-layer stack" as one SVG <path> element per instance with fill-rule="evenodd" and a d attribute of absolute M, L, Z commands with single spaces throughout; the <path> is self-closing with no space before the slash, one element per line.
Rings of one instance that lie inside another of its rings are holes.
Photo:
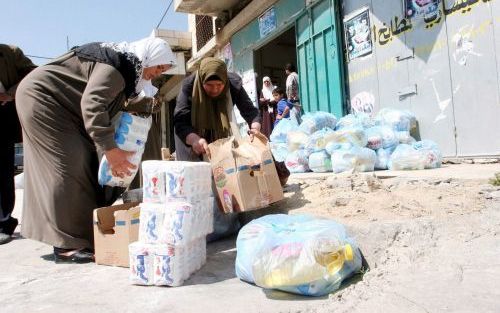
<path fill-rule="evenodd" d="M 180 286 L 206 263 L 206 239 L 201 237 L 186 245 L 154 245 L 154 284 Z"/>

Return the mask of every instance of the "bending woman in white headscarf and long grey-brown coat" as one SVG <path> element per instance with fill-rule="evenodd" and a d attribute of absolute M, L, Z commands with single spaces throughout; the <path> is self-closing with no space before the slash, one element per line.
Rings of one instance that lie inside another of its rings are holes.
<path fill-rule="evenodd" d="M 32 71 L 20 83 L 24 237 L 54 247 L 56 262 L 93 260 L 92 211 L 123 190 L 99 186 L 98 156 L 127 175 L 130 152 L 116 146 L 111 119 L 121 110 L 153 110 L 151 79 L 175 66 L 159 38 L 90 43 Z"/>

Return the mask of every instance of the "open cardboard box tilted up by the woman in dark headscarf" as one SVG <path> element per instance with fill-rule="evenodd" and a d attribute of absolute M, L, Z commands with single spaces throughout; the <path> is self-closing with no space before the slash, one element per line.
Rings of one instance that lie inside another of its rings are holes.
<path fill-rule="evenodd" d="M 224 212 L 251 211 L 283 199 L 267 138 L 220 139 L 209 146 L 217 194 Z"/>

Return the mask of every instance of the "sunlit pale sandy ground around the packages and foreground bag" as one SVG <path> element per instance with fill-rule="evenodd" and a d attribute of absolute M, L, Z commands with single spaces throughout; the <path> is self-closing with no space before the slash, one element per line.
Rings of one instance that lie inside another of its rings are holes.
<path fill-rule="evenodd" d="M 51 247 L 17 238 L 0 246 L 0 312 L 500 312 L 500 187 L 487 183 L 498 171 L 294 175 L 267 212 L 343 223 L 370 267 L 327 297 L 239 281 L 234 238 L 210 244 L 207 264 L 178 288 L 132 286 L 123 268 L 56 265 Z"/>

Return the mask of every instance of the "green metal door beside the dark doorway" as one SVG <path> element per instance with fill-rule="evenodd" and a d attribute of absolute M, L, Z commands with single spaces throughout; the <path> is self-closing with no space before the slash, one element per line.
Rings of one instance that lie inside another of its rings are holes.
<path fill-rule="evenodd" d="M 338 3 L 323 0 L 297 19 L 300 102 L 306 112 L 344 113 L 343 54 Z"/>

